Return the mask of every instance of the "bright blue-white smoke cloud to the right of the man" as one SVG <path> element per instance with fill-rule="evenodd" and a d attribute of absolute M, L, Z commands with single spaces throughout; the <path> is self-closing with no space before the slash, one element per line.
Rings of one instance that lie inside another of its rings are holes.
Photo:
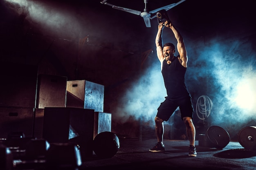
<path fill-rule="evenodd" d="M 249 45 L 249 44 L 247 44 Z M 228 114 L 229 120 L 219 117 L 219 121 L 238 121 L 247 119 L 256 113 L 256 73 L 253 70 L 254 55 L 248 55 L 245 51 L 251 51 L 240 41 L 233 41 L 230 44 L 215 44 L 202 51 L 202 60 L 211 62 L 209 70 L 215 78 L 216 86 L 214 93 L 221 106 L 215 114 Z M 239 50 L 238 50 L 239 49 Z M 207 54 L 207 56 L 206 56 Z M 216 91 L 218 90 L 218 91 Z M 214 97 L 214 94 L 212 94 Z M 221 98 L 218 98 L 221 97 Z M 243 102 L 244 101 L 244 102 Z M 247 102 L 245 102 L 247 101 Z M 240 110 L 239 113 L 232 113 L 231 110 Z M 223 113 L 224 112 L 224 113 Z"/>

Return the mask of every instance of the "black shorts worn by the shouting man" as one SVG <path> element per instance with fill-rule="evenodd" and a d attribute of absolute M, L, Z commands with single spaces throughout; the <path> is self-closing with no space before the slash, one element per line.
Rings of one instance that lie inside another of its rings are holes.
<path fill-rule="evenodd" d="M 183 117 L 191 117 L 191 119 L 193 119 L 194 108 L 190 96 L 182 99 L 170 99 L 166 97 L 164 102 L 162 102 L 157 108 L 156 116 L 163 119 L 164 121 L 168 121 L 168 119 L 178 107 L 180 107 L 182 120 Z"/>

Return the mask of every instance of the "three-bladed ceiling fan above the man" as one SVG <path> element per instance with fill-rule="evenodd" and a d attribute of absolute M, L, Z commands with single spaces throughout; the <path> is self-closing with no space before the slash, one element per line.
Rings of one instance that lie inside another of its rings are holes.
<path fill-rule="evenodd" d="M 117 6 L 115 6 L 115 5 L 112 5 L 112 4 L 108 3 L 107 0 L 101 1 L 101 4 L 106 4 L 106 5 L 111 6 L 111 7 L 114 8 L 114 9 L 119 9 L 119 10 L 121 10 L 121 11 L 126 11 L 126 12 L 129 12 L 129 13 L 133 13 L 133 14 L 135 14 L 135 15 L 140 15 L 140 16 L 144 19 L 144 22 L 145 22 L 145 24 L 146 24 L 146 27 L 151 27 L 150 19 L 153 19 L 153 18 L 156 17 L 156 15 L 153 15 L 153 16 L 151 17 L 151 15 L 152 15 L 153 13 L 156 13 L 157 11 L 160 11 L 160 10 L 162 10 L 162 9 L 165 9 L 166 11 L 168 11 L 169 9 L 171 9 L 171 8 L 173 8 L 173 7 L 175 7 L 175 6 L 177 6 L 178 4 L 180 4 L 180 3 L 184 2 L 184 1 L 185 1 L 185 0 L 180 0 L 180 1 L 177 2 L 177 3 L 169 4 L 169 5 L 166 5 L 166 6 L 164 6 L 164 7 L 161 7 L 161 8 L 155 9 L 155 10 L 153 10 L 153 11 L 149 11 L 149 12 L 148 12 L 148 9 L 147 9 L 148 0 L 144 0 L 145 8 L 144 8 L 144 11 L 143 11 L 143 12 L 141 12 L 141 11 L 136 11 L 136 10 L 133 10 L 133 9 L 124 8 L 124 7 L 117 7 Z"/>

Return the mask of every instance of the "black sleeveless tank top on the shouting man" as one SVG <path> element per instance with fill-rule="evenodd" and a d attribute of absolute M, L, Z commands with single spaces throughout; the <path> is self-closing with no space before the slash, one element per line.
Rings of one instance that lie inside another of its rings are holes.
<path fill-rule="evenodd" d="M 172 99 L 180 99 L 190 96 L 185 84 L 186 67 L 182 66 L 177 57 L 173 59 L 171 64 L 163 61 L 162 75 L 164 77 L 164 85 L 167 97 Z"/>

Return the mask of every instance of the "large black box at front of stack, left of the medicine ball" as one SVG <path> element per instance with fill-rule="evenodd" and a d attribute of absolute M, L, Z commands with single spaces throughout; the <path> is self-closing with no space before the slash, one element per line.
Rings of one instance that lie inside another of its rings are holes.
<path fill-rule="evenodd" d="M 43 138 L 49 143 L 79 144 L 82 159 L 93 154 L 94 110 L 45 107 Z"/>

